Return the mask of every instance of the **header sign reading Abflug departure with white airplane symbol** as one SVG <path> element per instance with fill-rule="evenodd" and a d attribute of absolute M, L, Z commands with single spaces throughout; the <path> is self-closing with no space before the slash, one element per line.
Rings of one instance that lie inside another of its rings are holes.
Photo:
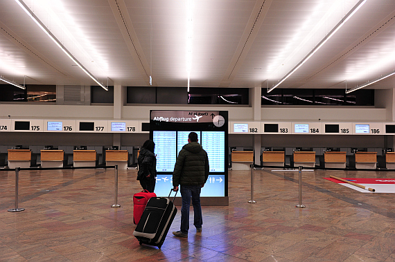
<path fill-rule="evenodd" d="M 219 115 L 219 111 L 151 111 L 151 120 L 159 122 L 207 123 Z"/>

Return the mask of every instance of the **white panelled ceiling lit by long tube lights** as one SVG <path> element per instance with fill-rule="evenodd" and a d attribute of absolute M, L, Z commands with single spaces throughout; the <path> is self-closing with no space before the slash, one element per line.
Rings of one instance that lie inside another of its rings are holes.
<path fill-rule="evenodd" d="M 186 86 L 186 0 L 24 3 L 103 84 L 148 86 L 152 75 L 155 86 Z M 193 0 L 191 86 L 273 86 L 356 3 Z M 391 73 L 394 22 L 394 0 L 367 0 L 279 88 L 351 88 Z M 13 0 L 0 1 L 0 61 L 18 84 L 96 85 Z M 395 77 L 369 86 L 394 87 Z"/>

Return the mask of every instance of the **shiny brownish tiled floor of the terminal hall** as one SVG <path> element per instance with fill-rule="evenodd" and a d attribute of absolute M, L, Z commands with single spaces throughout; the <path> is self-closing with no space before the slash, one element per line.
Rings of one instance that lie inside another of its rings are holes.
<path fill-rule="evenodd" d="M 255 171 L 256 204 L 249 204 L 249 171 L 229 171 L 229 206 L 203 207 L 202 233 L 191 223 L 176 238 L 178 212 L 159 250 L 132 236 L 137 171 L 0 171 L 0 261 L 395 261 L 395 196 L 364 194 L 322 179 L 330 175 L 395 178 L 392 172 Z M 394 185 L 395 187 L 395 185 Z M 193 219 L 193 216 L 191 216 Z"/>

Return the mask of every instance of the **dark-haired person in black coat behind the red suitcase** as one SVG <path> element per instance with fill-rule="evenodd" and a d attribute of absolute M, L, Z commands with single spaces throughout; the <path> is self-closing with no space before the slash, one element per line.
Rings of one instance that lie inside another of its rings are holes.
<path fill-rule="evenodd" d="M 143 147 L 140 149 L 139 158 L 137 158 L 137 164 L 139 165 L 137 180 L 140 181 L 140 185 L 143 189 L 151 193 L 155 190 L 157 177 L 157 158 L 154 154 L 154 149 L 155 142 L 146 140 Z"/>

